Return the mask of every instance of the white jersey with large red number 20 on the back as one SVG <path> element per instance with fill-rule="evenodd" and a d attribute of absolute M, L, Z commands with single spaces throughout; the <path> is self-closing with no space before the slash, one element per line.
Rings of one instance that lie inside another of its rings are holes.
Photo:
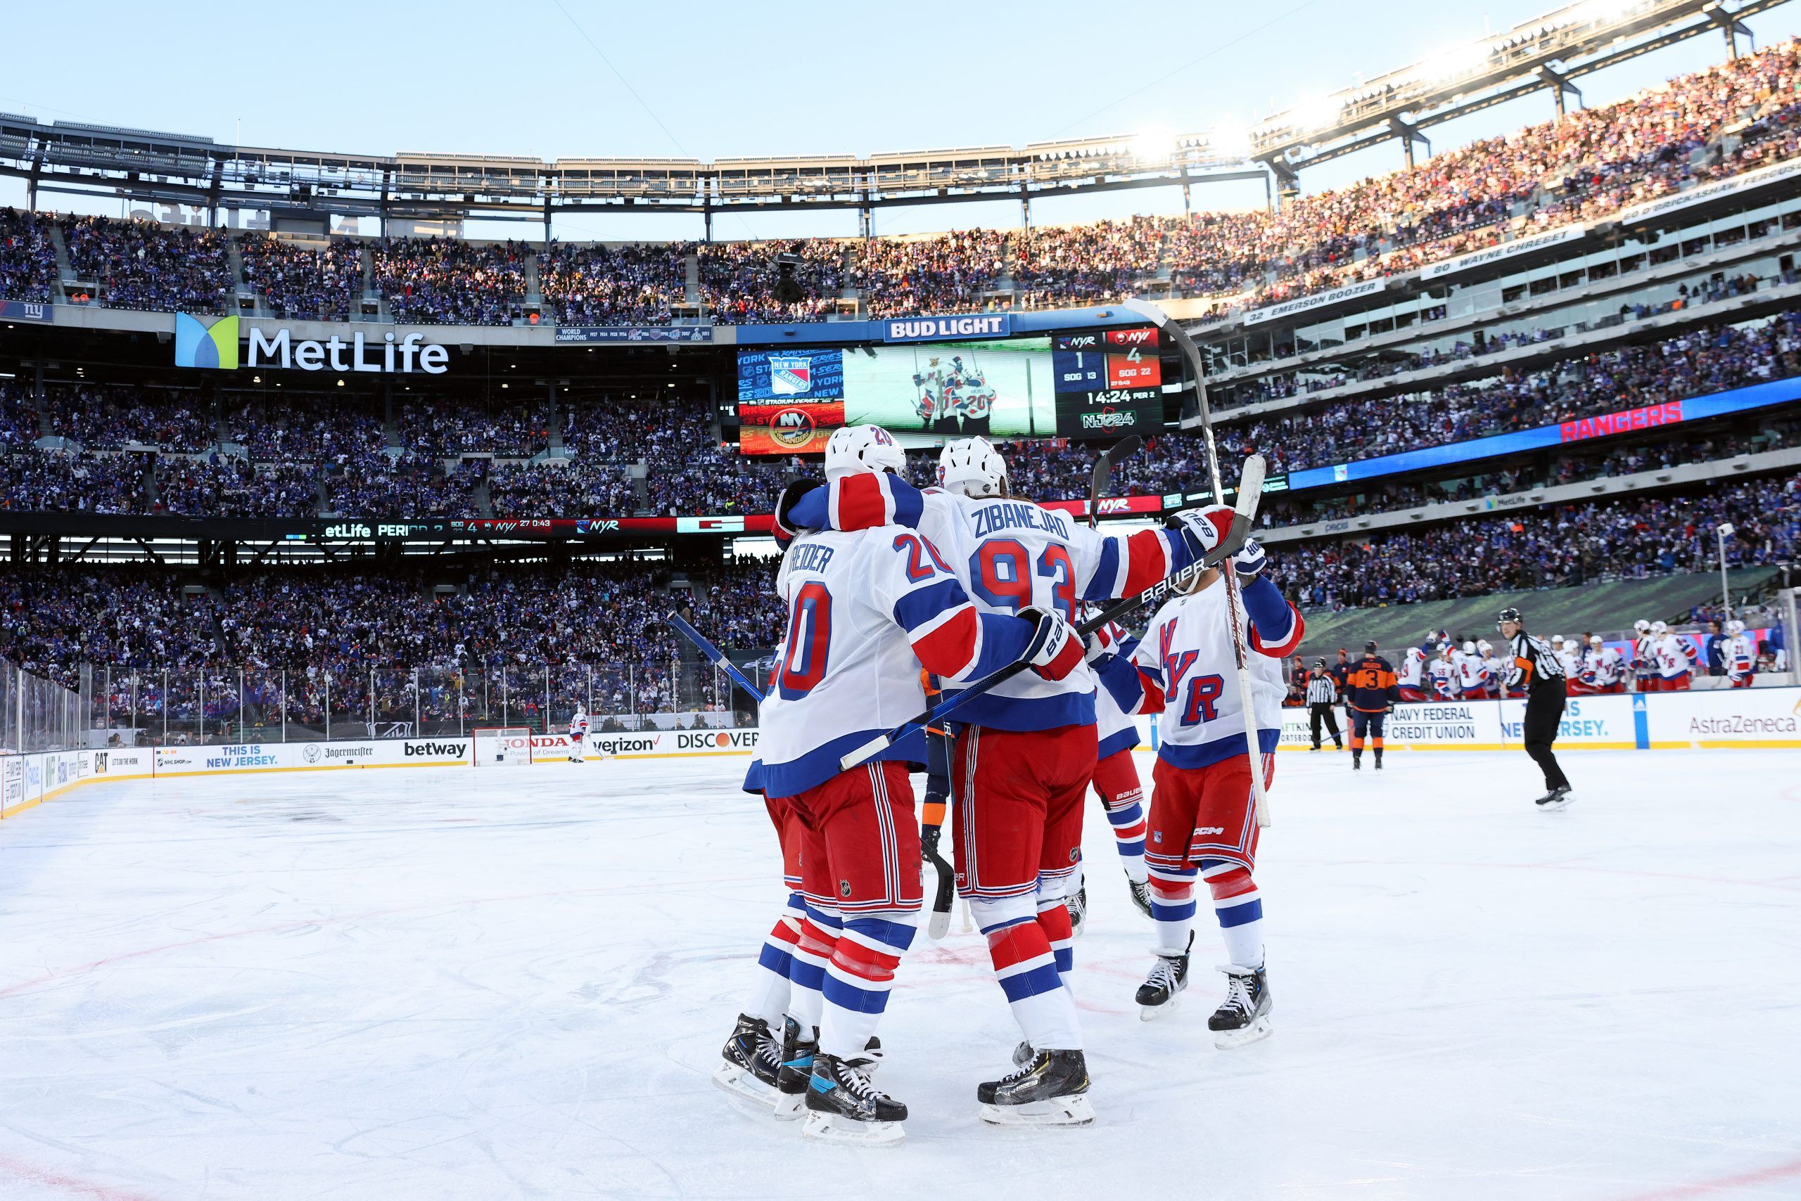
<path fill-rule="evenodd" d="M 978 614 L 956 573 L 919 531 L 881 524 L 807 533 L 776 573 L 789 628 L 762 709 L 758 783 L 798 796 L 839 772 L 839 758 L 926 708 L 919 670 L 946 681 L 998 672 L 1032 625 Z M 875 758 L 926 762 L 924 735 Z"/>

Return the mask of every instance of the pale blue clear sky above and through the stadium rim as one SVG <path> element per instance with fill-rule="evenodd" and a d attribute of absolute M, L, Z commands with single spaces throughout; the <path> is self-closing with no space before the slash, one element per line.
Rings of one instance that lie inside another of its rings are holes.
<path fill-rule="evenodd" d="M 1025 146 L 1252 122 L 1549 11 L 1540 0 L 1064 4 L 511 4 L 0 7 L 0 110 L 220 142 L 481 155 L 852 153 Z M 1801 4 L 1751 22 L 1801 32 Z M 1725 56 L 1716 34 L 1581 81 L 1590 104 Z M 1552 115 L 1549 94 L 1432 130 L 1434 149 Z M 1309 191 L 1401 166 L 1398 146 L 1317 167 Z M 0 180 L 0 202 L 23 189 Z M 1214 185 L 1198 207 L 1259 203 Z M 119 212 L 47 196 L 45 205 Z M 1036 223 L 1180 212 L 1176 189 L 1034 205 Z M 890 209 L 879 232 L 1019 223 L 1018 203 Z M 535 236 L 486 225 L 479 236 Z M 373 229 L 369 230 L 373 232 Z M 855 232 L 854 212 L 720 218 L 717 238 Z M 699 218 L 580 214 L 560 238 L 699 236 Z"/>

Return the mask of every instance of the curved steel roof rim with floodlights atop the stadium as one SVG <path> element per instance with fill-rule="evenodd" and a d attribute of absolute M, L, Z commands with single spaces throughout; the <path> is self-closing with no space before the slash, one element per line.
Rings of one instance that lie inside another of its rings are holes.
<path fill-rule="evenodd" d="M 1408 162 L 1425 130 L 1720 31 L 1733 52 L 1743 16 L 1785 0 L 1581 0 L 1507 32 L 1306 101 L 1250 130 L 1120 135 L 870 155 L 776 158 L 555 158 L 227 146 L 209 137 L 0 113 L 0 175 L 40 193 L 272 212 L 412 221 L 544 221 L 557 212 L 859 209 L 1019 200 L 1072 193 L 1261 178 L 1299 189 L 1299 173 L 1385 140 Z M 1272 196 L 1273 200 L 1273 196 Z M 385 225 L 384 225 L 385 232 Z"/>

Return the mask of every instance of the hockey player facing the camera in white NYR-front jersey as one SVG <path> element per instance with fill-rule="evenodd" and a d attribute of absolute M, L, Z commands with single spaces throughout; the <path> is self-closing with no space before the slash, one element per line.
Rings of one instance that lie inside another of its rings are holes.
<path fill-rule="evenodd" d="M 1234 681 L 1232 619 L 1219 571 L 1178 578 L 1131 659 L 1097 659 L 1106 688 L 1127 711 L 1160 713 L 1149 841 L 1151 917 L 1156 965 L 1138 989 L 1140 1017 L 1172 1010 L 1189 985 L 1194 944 L 1194 882 L 1207 880 L 1230 960 L 1226 999 L 1207 1019 L 1219 1048 L 1270 1034 L 1270 980 L 1263 949 L 1257 814 L 1250 772 L 1264 787 L 1275 772 L 1282 727 L 1282 657 L 1300 645 L 1306 623 L 1263 578 L 1264 553 L 1246 542 L 1232 558 L 1241 582 L 1237 625 L 1246 630 L 1259 763 L 1244 745 L 1244 709 Z M 1392 679 L 1392 677 L 1390 677 Z"/>

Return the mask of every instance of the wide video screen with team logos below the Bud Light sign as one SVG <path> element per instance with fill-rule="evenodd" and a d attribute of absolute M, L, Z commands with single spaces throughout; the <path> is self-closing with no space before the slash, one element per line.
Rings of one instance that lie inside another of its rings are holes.
<path fill-rule="evenodd" d="M 1163 421 L 1156 330 L 738 353 L 738 450 L 821 454 L 841 425 L 949 438 L 1120 438 Z"/>

